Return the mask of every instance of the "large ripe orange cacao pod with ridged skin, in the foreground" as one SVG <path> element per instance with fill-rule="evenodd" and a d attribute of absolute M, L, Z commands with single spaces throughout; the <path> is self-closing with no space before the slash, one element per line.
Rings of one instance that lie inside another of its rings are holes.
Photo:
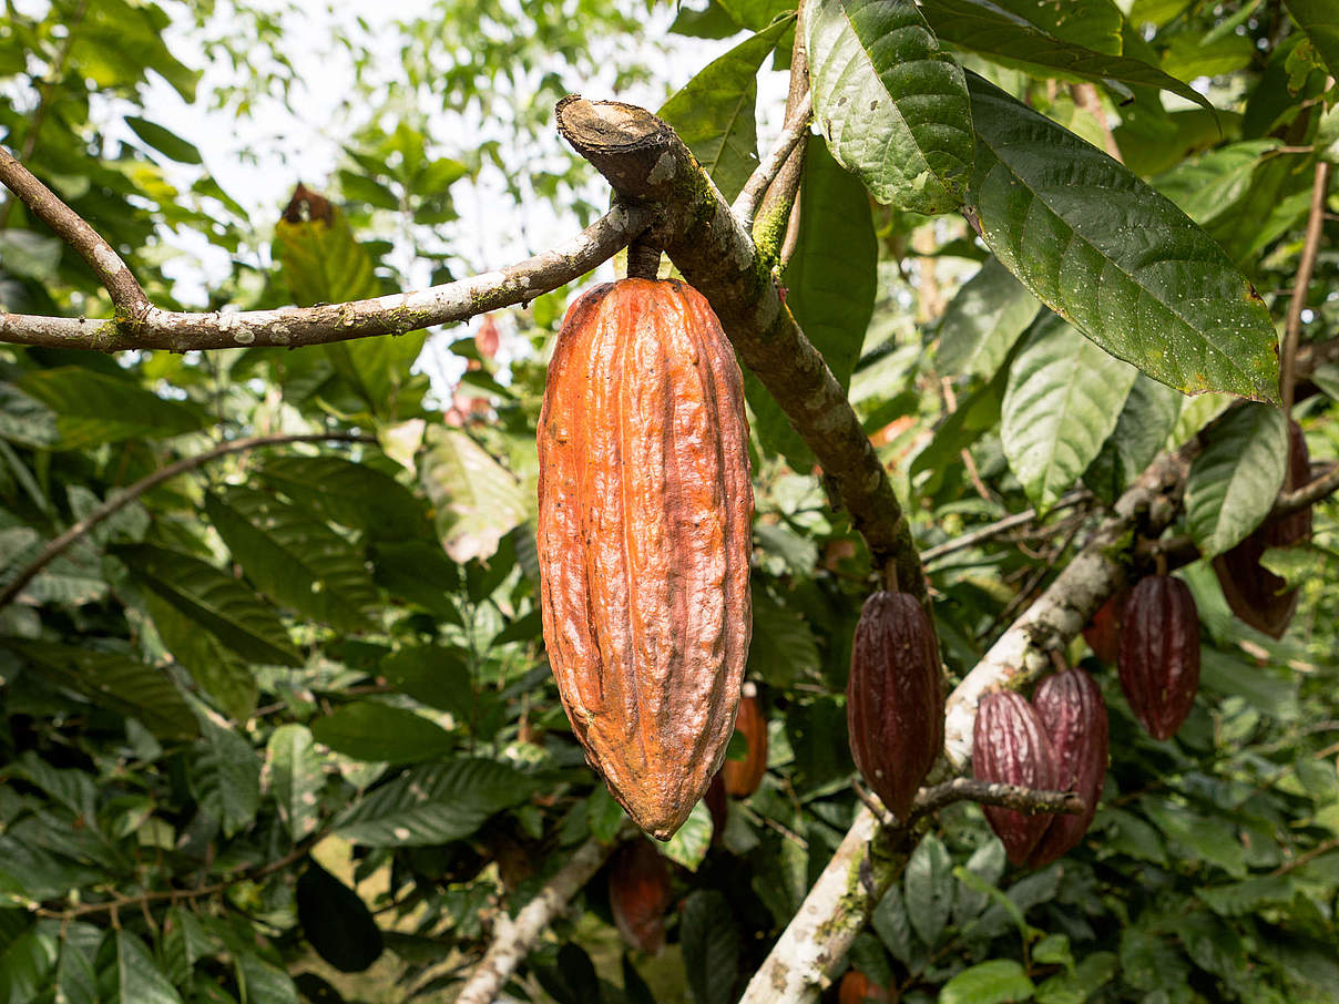
<path fill-rule="evenodd" d="M 743 382 L 706 299 L 644 278 L 581 296 L 538 446 L 558 693 L 613 797 L 670 839 L 724 759 L 753 628 Z"/>

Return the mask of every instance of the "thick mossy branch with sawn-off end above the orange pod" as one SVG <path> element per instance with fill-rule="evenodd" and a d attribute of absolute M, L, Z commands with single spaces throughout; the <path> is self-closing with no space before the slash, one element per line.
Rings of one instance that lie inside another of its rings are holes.
<path fill-rule="evenodd" d="M 902 589 L 925 598 L 907 518 L 823 357 L 781 301 L 749 230 L 674 130 L 644 108 L 578 96 L 558 103 L 558 131 L 631 205 L 659 206 L 656 242 L 715 309 L 743 360 L 834 482 L 876 568 L 896 562 Z"/>

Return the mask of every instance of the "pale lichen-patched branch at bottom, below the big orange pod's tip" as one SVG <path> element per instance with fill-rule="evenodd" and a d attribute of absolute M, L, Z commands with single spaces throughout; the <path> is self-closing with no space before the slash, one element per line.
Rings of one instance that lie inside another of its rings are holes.
<path fill-rule="evenodd" d="M 516 920 L 502 910 L 494 924 L 493 944 L 474 968 L 455 1004 L 491 1004 L 540 936 L 568 909 L 568 902 L 613 853 L 613 845 L 590 838 L 558 869 Z"/>

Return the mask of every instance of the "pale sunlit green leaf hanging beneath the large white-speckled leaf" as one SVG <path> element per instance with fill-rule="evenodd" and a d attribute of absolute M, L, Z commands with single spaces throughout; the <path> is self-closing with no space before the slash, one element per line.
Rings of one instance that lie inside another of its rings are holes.
<path fill-rule="evenodd" d="M 1036 325 L 1010 368 L 1000 435 L 1038 513 L 1087 470 L 1137 375 L 1055 316 Z"/>

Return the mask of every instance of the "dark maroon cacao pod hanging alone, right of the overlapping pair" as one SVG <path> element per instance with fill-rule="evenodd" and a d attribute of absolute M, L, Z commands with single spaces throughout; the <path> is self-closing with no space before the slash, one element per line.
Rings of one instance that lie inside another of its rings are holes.
<path fill-rule="evenodd" d="M 1200 688 L 1200 614 L 1190 589 L 1148 576 L 1130 590 L 1121 626 L 1121 689 L 1154 739 L 1170 739 Z"/>

